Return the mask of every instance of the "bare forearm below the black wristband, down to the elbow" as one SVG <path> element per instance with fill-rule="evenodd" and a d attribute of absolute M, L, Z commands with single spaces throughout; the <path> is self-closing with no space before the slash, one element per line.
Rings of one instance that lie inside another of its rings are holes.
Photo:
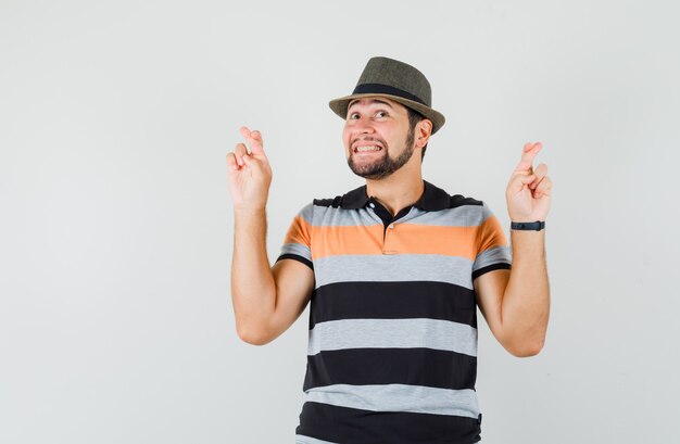
<path fill-rule="evenodd" d="M 511 230 L 513 266 L 503 296 L 503 330 L 522 355 L 539 353 L 545 341 L 550 287 L 545 264 L 545 230 Z"/>

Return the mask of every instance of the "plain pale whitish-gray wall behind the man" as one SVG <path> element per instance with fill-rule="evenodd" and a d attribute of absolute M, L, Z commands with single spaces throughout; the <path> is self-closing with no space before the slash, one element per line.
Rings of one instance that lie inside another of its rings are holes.
<path fill-rule="evenodd" d="M 366 61 L 448 118 L 426 180 L 489 203 L 522 144 L 554 181 L 547 342 L 480 317 L 486 443 L 675 442 L 680 7 L 668 1 L 0 1 L 0 442 L 292 443 L 308 312 L 238 339 L 225 155 L 260 129 L 269 259 L 363 183 L 328 101 Z"/>

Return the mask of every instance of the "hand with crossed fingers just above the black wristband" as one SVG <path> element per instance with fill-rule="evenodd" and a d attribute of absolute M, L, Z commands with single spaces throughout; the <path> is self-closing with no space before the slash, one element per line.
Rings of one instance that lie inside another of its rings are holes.
<path fill-rule="evenodd" d="M 521 161 L 507 183 L 505 199 L 512 221 L 545 220 L 550 210 L 553 181 L 547 177 L 547 165 L 533 170 L 533 157 L 541 151 L 541 142 L 525 143 Z"/>

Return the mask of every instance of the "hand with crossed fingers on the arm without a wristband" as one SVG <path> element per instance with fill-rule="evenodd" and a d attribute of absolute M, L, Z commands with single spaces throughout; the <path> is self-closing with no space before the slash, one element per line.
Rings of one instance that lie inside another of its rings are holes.
<path fill-rule="evenodd" d="M 244 126 L 240 130 L 251 152 L 244 143 L 237 143 L 234 152 L 227 154 L 231 201 L 237 210 L 264 210 L 272 183 L 272 167 L 262 147 L 262 135 Z"/>

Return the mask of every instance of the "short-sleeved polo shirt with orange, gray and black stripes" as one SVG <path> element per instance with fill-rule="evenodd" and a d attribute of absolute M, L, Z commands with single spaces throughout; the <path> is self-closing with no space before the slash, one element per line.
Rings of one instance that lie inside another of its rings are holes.
<path fill-rule="evenodd" d="M 315 199 L 288 230 L 277 261 L 315 276 L 297 443 L 480 440 L 473 280 L 511 251 L 483 202 L 424 186 L 394 216 L 366 186 Z"/>

